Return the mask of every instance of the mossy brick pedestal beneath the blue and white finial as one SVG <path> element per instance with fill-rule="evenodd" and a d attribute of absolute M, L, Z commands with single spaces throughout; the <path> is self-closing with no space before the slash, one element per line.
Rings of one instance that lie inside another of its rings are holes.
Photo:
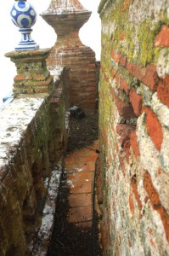
<path fill-rule="evenodd" d="M 5 54 L 14 62 L 14 96 L 20 94 L 48 93 L 53 88 L 53 77 L 47 69 L 49 49 L 12 51 Z"/>

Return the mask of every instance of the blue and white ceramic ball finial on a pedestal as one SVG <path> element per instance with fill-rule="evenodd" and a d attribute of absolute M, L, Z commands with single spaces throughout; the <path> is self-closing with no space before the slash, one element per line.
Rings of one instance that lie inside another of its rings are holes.
<path fill-rule="evenodd" d="M 37 20 L 37 13 L 30 3 L 26 0 L 16 0 L 10 12 L 15 26 L 19 26 L 22 38 L 16 50 L 38 49 L 37 43 L 31 39 L 31 26 Z"/>

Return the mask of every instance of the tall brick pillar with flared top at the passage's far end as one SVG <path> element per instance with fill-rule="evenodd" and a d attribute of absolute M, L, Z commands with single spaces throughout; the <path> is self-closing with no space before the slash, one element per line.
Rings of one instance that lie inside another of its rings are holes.
<path fill-rule="evenodd" d="M 91 12 L 78 0 L 52 0 L 42 18 L 54 28 L 57 42 L 50 50 L 48 67 L 70 68 L 70 104 L 80 106 L 87 113 L 96 108 L 95 53 L 82 44 L 79 30 Z"/>

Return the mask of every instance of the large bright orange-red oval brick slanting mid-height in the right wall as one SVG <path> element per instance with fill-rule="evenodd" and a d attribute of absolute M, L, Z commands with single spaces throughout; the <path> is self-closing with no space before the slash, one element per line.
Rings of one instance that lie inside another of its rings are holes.
<path fill-rule="evenodd" d="M 155 147 L 161 150 L 161 144 L 163 141 L 163 133 L 161 123 L 157 119 L 155 113 L 150 108 L 144 108 L 146 113 L 146 126 Z"/>

